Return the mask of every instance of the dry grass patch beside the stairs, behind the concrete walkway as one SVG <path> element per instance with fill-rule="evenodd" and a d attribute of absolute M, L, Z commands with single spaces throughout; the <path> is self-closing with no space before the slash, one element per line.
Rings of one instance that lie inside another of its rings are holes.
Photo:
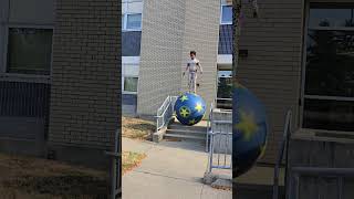
<path fill-rule="evenodd" d="M 122 126 L 123 137 L 132 139 L 148 139 L 156 128 L 154 122 L 133 117 L 123 117 Z"/>

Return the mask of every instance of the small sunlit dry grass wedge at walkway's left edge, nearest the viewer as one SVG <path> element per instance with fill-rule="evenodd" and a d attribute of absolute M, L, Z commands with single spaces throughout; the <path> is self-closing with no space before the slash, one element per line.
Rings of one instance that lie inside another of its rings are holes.
<path fill-rule="evenodd" d="M 145 157 L 146 157 L 145 154 L 123 151 L 123 155 L 122 155 L 123 175 L 134 169 L 135 167 L 138 167 Z"/>

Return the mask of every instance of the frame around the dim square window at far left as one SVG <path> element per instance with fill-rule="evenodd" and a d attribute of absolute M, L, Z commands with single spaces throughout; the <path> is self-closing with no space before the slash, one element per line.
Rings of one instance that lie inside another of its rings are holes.
<path fill-rule="evenodd" d="M 4 40 L 3 40 L 3 67 L 0 69 L 0 74 L 4 77 L 13 77 L 13 78 L 23 78 L 23 77 L 41 77 L 46 78 L 48 81 L 52 76 L 53 72 L 53 39 L 54 39 L 54 25 L 53 24 L 22 24 L 22 23 L 9 23 L 4 27 Z M 50 72 L 48 75 L 40 75 L 40 74 L 24 74 L 24 73 L 9 73 L 8 72 L 8 53 L 9 53 L 9 30 L 10 29 L 42 29 L 42 30 L 52 30 L 52 51 L 51 51 L 51 62 L 50 62 Z"/>

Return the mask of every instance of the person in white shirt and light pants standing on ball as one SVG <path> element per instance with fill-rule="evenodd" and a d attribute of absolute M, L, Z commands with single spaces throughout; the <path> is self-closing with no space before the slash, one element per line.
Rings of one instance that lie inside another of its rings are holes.
<path fill-rule="evenodd" d="M 197 91 L 197 73 L 200 71 L 200 74 L 202 74 L 202 69 L 200 65 L 200 62 L 198 59 L 196 59 L 196 51 L 190 51 L 189 53 L 190 60 L 187 63 L 187 67 L 183 75 L 185 76 L 186 72 L 188 71 L 189 76 L 188 76 L 188 87 L 189 92 L 192 92 L 196 94 Z M 199 86 L 199 85 L 198 85 Z"/>

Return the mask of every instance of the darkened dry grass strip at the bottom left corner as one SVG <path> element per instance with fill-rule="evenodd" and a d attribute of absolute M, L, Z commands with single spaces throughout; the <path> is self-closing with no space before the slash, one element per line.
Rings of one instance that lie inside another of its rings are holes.
<path fill-rule="evenodd" d="M 98 199 L 108 191 L 105 171 L 0 154 L 1 199 Z"/>

